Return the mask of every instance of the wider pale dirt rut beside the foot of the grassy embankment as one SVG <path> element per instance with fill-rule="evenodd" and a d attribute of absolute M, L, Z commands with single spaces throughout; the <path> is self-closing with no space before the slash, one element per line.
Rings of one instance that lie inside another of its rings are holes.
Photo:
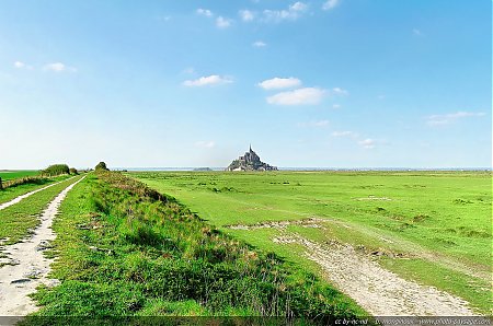
<path fill-rule="evenodd" d="M 58 207 L 67 193 L 84 177 L 65 188 L 49 202 L 39 218 L 41 225 L 34 230 L 31 238 L 3 248 L 11 265 L 0 268 L 0 316 L 25 316 L 34 312 L 36 306 L 27 294 L 33 293 L 41 283 L 57 284 L 57 280 L 46 278 L 53 259 L 45 258 L 43 251 L 56 237 L 51 223 L 58 213 Z"/>

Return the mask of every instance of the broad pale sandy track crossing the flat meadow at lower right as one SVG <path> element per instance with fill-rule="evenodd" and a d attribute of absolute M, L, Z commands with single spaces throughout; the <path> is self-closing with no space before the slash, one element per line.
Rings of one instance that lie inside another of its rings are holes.
<path fill-rule="evenodd" d="M 274 241 L 303 245 L 326 277 L 375 316 L 474 315 L 462 299 L 404 280 L 348 245 L 320 245 L 297 234 Z"/>

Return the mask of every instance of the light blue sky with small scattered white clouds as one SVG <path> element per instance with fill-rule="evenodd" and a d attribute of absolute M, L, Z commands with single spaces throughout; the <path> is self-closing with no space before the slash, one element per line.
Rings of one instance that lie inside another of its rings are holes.
<path fill-rule="evenodd" d="M 491 7 L 2 0 L 0 170 L 490 167 Z"/>

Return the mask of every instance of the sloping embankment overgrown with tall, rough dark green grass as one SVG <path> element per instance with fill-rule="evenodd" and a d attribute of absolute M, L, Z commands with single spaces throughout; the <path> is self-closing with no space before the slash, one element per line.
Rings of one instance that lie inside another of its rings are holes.
<path fill-rule="evenodd" d="M 312 273 L 218 232 L 119 173 L 90 174 L 55 220 L 56 288 L 39 316 L 330 316 L 365 313 Z"/>

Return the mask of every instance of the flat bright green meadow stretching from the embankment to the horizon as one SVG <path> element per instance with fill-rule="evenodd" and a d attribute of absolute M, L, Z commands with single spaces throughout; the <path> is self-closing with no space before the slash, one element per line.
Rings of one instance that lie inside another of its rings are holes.
<path fill-rule="evenodd" d="M 276 244 L 275 229 L 230 224 L 324 219 L 321 229 L 288 231 L 324 243 L 349 243 L 383 267 L 435 286 L 491 314 L 491 173 L 275 172 L 131 173 L 176 197 L 220 230 L 272 248 L 312 271 L 305 248 Z"/>

